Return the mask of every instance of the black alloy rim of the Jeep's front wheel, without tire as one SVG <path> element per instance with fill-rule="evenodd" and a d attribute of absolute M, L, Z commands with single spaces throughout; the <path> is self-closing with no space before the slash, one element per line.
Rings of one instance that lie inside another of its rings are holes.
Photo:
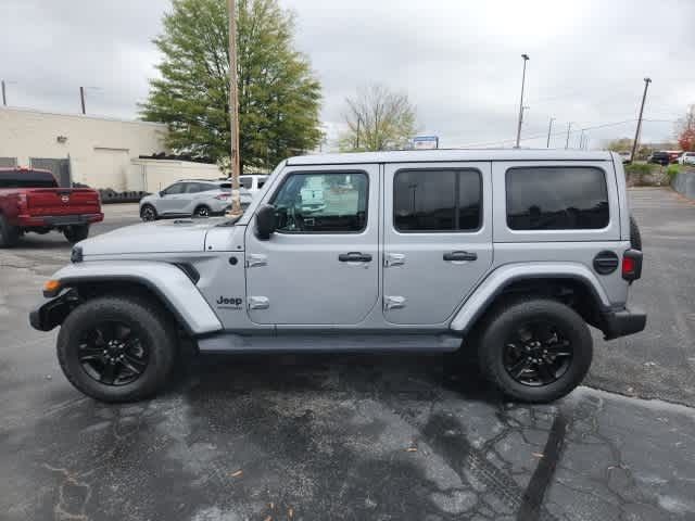
<path fill-rule="evenodd" d="M 121 386 L 142 376 L 149 364 L 150 348 L 127 323 L 109 320 L 83 333 L 77 358 L 94 381 Z"/>

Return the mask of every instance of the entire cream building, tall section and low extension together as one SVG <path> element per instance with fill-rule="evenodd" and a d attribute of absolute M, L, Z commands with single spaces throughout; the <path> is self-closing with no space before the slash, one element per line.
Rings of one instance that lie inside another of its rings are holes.
<path fill-rule="evenodd" d="M 166 131 L 157 123 L 0 107 L 0 166 L 34 164 L 58 174 L 58 165 L 70 165 L 73 182 L 116 191 L 152 192 L 181 178 L 219 177 L 215 165 L 138 158 L 168 152 Z"/>

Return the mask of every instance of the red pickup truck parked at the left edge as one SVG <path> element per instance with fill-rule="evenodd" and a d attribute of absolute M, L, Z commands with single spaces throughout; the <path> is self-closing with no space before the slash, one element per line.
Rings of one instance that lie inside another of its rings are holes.
<path fill-rule="evenodd" d="M 103 218 L 96 190 L 60 188 L 48 170 L 0 168 L 0 247 L 15 245 L 24 233 L 51 230 L 79 242 Z"/>

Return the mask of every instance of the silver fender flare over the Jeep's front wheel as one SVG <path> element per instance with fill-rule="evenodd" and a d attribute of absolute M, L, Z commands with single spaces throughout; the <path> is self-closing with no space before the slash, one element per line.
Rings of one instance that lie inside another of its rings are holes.
<path fill-rule="evenodd" d="M 222 322 L 186 272 L 168 263 L 151 260 L 93 260 L 68 265 L 53 280 L 61 290 L 85 283 L 129 282 L 154 293 L 191 335 L 222 330 Z M 41 306 L 49 306 L 49 301 Z M 54 326 L 53 326 L 54 327 Z"/>

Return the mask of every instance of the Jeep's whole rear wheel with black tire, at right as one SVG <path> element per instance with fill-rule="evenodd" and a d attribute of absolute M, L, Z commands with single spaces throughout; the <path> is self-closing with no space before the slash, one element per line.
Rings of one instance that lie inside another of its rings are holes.
<path fill-rule="evenodd" d="M 572 308 L 549 298 L 527 297 L 503 303 L 488 316 L 478 341 L 478 356 L 483 374 L 505 395 L 527 403 L 553 402 L 571 392 L 586 376 L 593 357 L 593 341 L 586 323 Z M 528 343 L 513 341 L 518 332 L 534 329 L 554 334 L 538 335 L 539 339 L 545 336 L 544 341 L 548 339 L 547 343 L 531 347 L 536 350 L 531 353 Z M 569 344 L 564 345 L 565 342 Z M 514 358 L 519 352 L 523 354 Z M 545 355 L 547 352 L 551 354 Z M 565 356 L 568 352 L 570 356 Z M 532 356 L 553 357 L 555 365 L 530 364 L 528 360 Z M 519 364 L 525 369 L 519 378 L 515 378 L 513 372 L 518 372 Z M 547 372 L 541 371 L 541 366 L 546 367 Z M 531 384 L 533 373 L 540 380 L 544 380 L 540 377 L 542 373 L 547 374 L 548 381 Z"/>

